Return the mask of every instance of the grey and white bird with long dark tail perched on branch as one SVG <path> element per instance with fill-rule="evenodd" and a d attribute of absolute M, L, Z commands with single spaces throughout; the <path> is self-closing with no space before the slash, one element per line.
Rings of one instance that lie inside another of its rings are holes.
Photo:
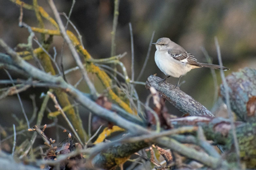
<path fill-rule="evenodd" d="M 179 77 L 180 81 L 180 78 L 191 69 L 199 67 L 229 70 L 229 68 L 220 65 L 198 63 L 192 54 L 175 42 L 172 42 L 169 38 L 160 38 L 153 44 L 157 49 L 155 52 L 155 62 L 158 68 L 167 76 L 166 78 L 170 76 Z M 159 84 L 165 81 L 166 78 L 161 80 Z M 175 88 L 178 87 L 179 81 Z"/>

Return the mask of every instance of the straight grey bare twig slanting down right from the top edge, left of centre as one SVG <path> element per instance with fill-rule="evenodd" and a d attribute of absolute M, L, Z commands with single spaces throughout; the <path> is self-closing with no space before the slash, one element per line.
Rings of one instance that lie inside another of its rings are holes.
<path fill-rule="evenodd" d="M 66 33 L 65 27 L 64 27 L 64 25 L 63 25 L 63 23 L 62 23 L 62 21 L 60 19 L 60 14 L 59 14 L 59 12 L 58 12 L 58 10 L 57 10 L 53 0 L 48 0 L 48 3 L 50 5 L 50 7 L 52 8 L 52 11 L 53 11 L 54 16 L 55 16 L 55 18 L 57 20 L 57 23 L 59 24 L 60 32 L 63 35 L 63 38 L 65 39 L 66 43 L 68 44 L 69 49 L 71 50 L 72 56 L 74 57 L 77 65 L 78 65 L 78 67 L 79 67 L 79 69 L 80 69 L 80 71 L 81 71 L 81 73 L 83 75 L 83 78 L 86 81 L 86 83 L 87 83 L 87 85 L 88 85 L 88 87 L 89 87 L 89 89 L 91 91 L 92 96 L 94 97 L 94 99 L 96 99 L 97 98 L 97 91 L 96 91 L 96 89 L 94 87 L 94 84 L 92 83 L 92 81 L 88 77 L 87 71 L 84 68 L 84 66 L 83 66 L 83 64 L 82 64 L 82 62 L 81 62 L 81 60 L 79 58 L 77 50 L 73 46 L 71 40 L 69 39 L 69 37 L 68 37 L 68 35 Z"/>

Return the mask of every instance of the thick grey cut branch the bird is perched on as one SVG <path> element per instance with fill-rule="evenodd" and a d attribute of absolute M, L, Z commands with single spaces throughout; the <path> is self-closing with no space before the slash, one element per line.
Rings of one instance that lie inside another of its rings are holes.
<path fill-rule="evenodd" d="M 162 79 L 156 76 L 149 76 L 146 81 L 146 89 L 150 87 L 154 87 L 159 93 L 162 94 L 162 97 L 170 102 L 173 106 L 175 106 L 178 110 L 183 113 L 189 113 L 191 116 L 210 116 L 214 117 L 213 114 L 193 99 L 191 96 L 182 92 L 178 88 L 171 89 L 173 87 L 172 84 L 165 81 L 158 85 L 158 82 Z"/>

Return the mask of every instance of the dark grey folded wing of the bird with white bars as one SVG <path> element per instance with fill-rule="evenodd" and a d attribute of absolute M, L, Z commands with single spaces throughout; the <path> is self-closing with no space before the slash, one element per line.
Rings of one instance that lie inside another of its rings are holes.
<path fill-rule="evenodd" d="M 179 54 L 174 54 L 171 51 L 168 51 L 168 53 L 171 55 L 172 58 L 174 58 L 175 60 L 178 60 L 182 63 L 201 66 L 199 63 L 197 63 L 196 58 L 190 53 L 180 52 Z"/>

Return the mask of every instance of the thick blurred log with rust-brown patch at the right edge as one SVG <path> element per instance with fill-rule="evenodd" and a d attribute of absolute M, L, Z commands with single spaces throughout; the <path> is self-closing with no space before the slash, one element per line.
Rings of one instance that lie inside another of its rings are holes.
<path fill-rule="evenodd" d="M 246 122 L 256 121 L 256 70 L 244 68 L 239 72 L 233 72 L 226 77 L 231 109 L 238 118 Z M 226 102 L 223 84 L 220 86 L 220 94 Z"/>

